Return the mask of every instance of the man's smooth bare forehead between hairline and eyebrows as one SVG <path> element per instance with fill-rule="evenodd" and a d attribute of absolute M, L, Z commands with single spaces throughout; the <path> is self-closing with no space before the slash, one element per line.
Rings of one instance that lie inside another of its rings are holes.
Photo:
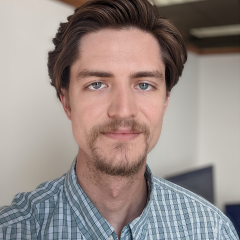
<path fill-rule="evenodd" d="M 157 39 L 137 28 L 103 29 L 86 34 L 80 41 L 79 56 L 73 68 L 74 65 L 81 70 L 111 68 L 134 72 L 165 69 Z"/>

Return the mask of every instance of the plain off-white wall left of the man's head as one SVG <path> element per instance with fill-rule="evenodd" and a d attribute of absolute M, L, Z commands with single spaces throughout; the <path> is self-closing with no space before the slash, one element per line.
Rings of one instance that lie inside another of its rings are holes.
<path fill-rule="evenodd" d="M 77 147 L 50 86 L 47 53 L 73 8 L 0 1 L 0 206 L 69 169 Z"/>

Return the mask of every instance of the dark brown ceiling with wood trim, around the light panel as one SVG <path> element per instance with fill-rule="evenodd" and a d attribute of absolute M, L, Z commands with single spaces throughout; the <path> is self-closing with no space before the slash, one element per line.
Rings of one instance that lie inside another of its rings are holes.
<path fill-rule="evenodd" d="M 58 0 L 78 7 L 86 0 Z M 182 33 L 189 50 L 199 54 L 240 52 L 240 34 L 197 38 L 192 28 L 240 24 L 240 0 L 205 0 L 159 7 Z"/>

